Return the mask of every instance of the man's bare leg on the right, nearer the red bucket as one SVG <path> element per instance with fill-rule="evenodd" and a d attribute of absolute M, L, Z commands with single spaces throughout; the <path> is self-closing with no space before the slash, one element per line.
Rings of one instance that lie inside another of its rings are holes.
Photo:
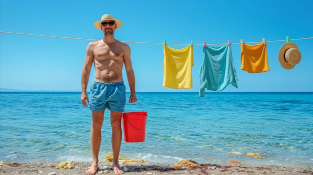
<path fill-rule="evenodd" d="M 112 127 L 112 152 L 113 152 L 113 162 L 112 162 L 112 168 L 115 175 L 121 175 L 124 174 L 123 171 L 121 171 L 119 165 L 118 165 L 118 156 L 119 156 L 119 150 L 120 150 L 120 144 L 121 144 L 121 112 L 116 111 L 110 111 L 110 122 Z"/>

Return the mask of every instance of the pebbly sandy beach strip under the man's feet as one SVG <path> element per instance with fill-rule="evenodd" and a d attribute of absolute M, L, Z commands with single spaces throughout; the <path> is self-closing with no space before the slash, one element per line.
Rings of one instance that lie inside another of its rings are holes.
<path fill-rule="evenodd" d="M 192 161 L 191 161 L 192 162 Z M 84 175 L 90 162 L 72 162 L 74 165 L 66 169 L 58 169 L 60 162 L 34 162 L 27 164 L 6 164 L 1 162 L 1 175 Z M 176 167 L 160 163 L 121 164 L 129 172 L 125 175 L 313 175 L 313 167 L 283 167 L 275 165 L 200 164 L 191 167 Z M 111 163 L 99 163 L 98 174 L 113 175 Z"/>

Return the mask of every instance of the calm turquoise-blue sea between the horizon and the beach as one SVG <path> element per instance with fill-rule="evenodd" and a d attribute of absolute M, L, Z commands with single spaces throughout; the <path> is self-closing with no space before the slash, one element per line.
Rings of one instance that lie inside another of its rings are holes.
<path fill-rule="evenodd" d="M 138 103 L 127 103 L 125 112 L 147 112 L 145 140 L 125 142 L 123 134 L 121 156 L 165 164 L 313 166 L 313 92 L 136 95 Z M 112 151 L 109 113 L 100 161 Z M 0 92 L 0 161 L 91 163 L 90 128 L 80 92 Z"/>

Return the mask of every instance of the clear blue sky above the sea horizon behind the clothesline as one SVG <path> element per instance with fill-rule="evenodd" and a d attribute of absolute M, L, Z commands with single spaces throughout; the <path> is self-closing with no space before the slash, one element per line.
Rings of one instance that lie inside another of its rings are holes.
<path fill-rule="evenodd" d="M 209 44 L 284 40 L 295 43 L 302 59 L 283 69 L 278 51 L 285 43 L 268 42 L 270 71 L 240 70 L 240 46 L 232 44 L 238 89 L 223 91 L 313 91 L 312 0 L 0 0 L 0 31 L 86 39 L 102 39 L 93 27 L 102 14 L 122 20 L 120 41 Z M 80 91 L 88 40 L 0 33 L 0 88 Z M 198 91 L 202 45 L 193 46 L 192 89 L 162 87 L 161 44 L 128 43 L 136 91 Z M 169 45 L 183 48 L 184 45 Z M 210 45 L 209 45 L 210 46 Z M 213 45 L 211 45 L 213 46 Z M 221 45 L 219 45 L 221 46 Z M 219 47 L 213 46 L 213 47 Z M 90 74 L 88 86 L 93 82 Z M 124 75 L 126 91 L 127 78 Z"/>

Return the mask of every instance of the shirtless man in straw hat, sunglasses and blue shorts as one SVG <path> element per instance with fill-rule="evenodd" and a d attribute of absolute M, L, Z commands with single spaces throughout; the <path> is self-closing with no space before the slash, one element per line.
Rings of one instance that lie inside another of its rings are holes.
<path fill-rule="evenodd" d="M 121 113 L 124 111 L 126 96 L 125 85 L 122 78 L 122 67 L 125 71 L 130 88 L 129 103 L 137 101 L 135 94 L 135 78 L 130 60 L 130 48 L 114 38 L 114 31 L 122 22 L 110 14 L 104 14 L 101 20 L 94 22 L 95 28 L 102 30 L 103 39 L 90 42 L 86 48 L 86 57 L 81 73 L 81 98 L 83 106 L 88 107 L 86 87 L 92 63 L 94 64 L 94 83 L 90 87 L 90 109 L 92 113 L 92 126 L 90 132 L 90 145 L 92 153 L 91 167 L 86 171 L 94 175 L 98 168 L 98 154 L 101 144 L 101 127 L 104 119 L 104 110 L 110 110 L 110 123 L 112 128 L 112 169 L 115 175 L 124 172 L 118 165 L 118 155 L 121 144 Z"/>

